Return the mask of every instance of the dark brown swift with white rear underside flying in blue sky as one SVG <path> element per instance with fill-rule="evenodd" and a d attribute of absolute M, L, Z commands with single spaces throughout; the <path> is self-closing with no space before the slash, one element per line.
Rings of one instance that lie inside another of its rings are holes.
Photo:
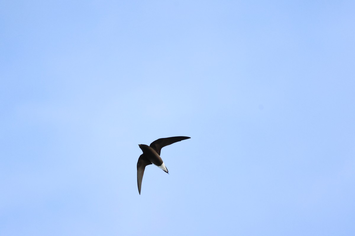
<path fill-rule="evenodd" d="M 163 147 L 170 144 L 180 142 L 181 140 L 189 139 L 190 137 L 177 136 L 169 138 L 159 138 L 155 140 L 151 145 L 139 144 L 138 146 L 142 149 L 143 154 L 140 155 L 137 162 L 137 185 L 138 192 L 141 195 L 142 179 L 144 174 L 144 169 L 146 166 L 154 164 L 160 169 L 169 174 L 168 169 L 166 168 L 162 158 L 160 157 L 160 151 Z"/>

